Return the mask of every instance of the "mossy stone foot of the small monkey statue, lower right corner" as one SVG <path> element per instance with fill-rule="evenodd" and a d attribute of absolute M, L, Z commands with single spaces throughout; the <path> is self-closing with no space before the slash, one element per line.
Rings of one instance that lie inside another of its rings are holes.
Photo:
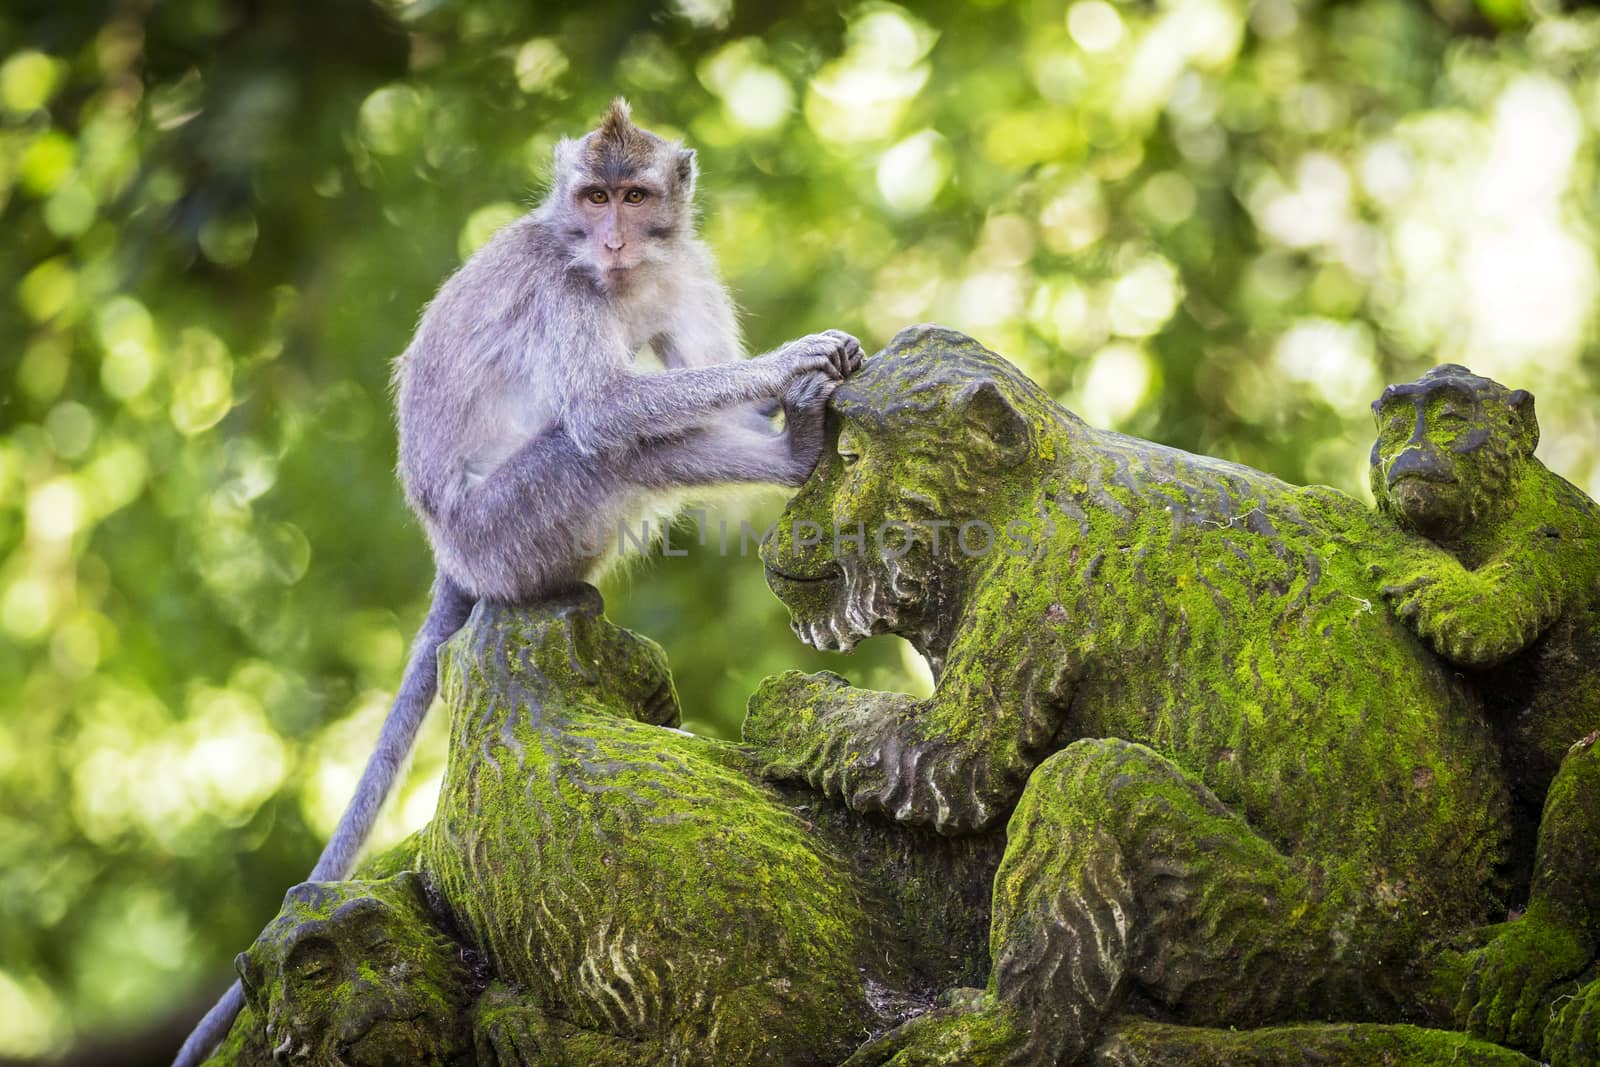
<path fill-rule="evenodd" d="M 1550 1019 L 1552 989 L 1578 974 L 1594 953 L 1578 933 L 1533 909 L 1491 929 L 1494 939 L 1472 953 L 1456 1024 L 1496 1045 L 1536 1051 Z"/>

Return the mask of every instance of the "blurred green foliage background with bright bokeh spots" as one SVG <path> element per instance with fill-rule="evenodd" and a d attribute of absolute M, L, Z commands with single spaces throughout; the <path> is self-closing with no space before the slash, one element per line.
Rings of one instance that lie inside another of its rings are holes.
<path fill-rule="evenodd" d="M 8 3 L 0 1057 L 165 1062 L 309 869 L 426 606 L 389 360 L 614 93 L 701 150 L 752 349 L 938 320 L 1357 494 L 1366 405 L 1456 360 L 1600 494 L 1600 18 L 1554 0 Z M 701 731 L 787 667 L 926 686 L 754 558 L 606 592 Z"/>

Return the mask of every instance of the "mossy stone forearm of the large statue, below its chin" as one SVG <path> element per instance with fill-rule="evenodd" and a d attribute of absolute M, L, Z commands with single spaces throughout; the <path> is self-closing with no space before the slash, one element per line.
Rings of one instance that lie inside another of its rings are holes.
<path fill-rule="evenodd" d="M 982 830 L 1011 813 L 1061 704 L 1000 701 L 978 662 L 954 651 L 926 701 L 856 689 L 834 673 L 778 675 L 750 697 L 744 739 L 770 777 L 802 779 L 856 811 L 939 833 Z"/>

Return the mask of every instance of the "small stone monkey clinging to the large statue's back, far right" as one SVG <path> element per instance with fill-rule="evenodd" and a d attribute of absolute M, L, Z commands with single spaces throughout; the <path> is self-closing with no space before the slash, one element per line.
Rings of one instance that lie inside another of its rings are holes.
<path fill-rule="evenodd" d="M 1600 507 L 1533 456 L 1522 389 L 1446 363 L 1386 389 L 1373 413 L 1373 494 L 1424 537 L 1384 595 L 1478 683 L 1518 837 L 1539 827 L 1526 912 L 1477 950 L 1458 1022 L 1538 1049 L 1552 989 L 1600 944 Z M 1600 1033 L 1600 985 L 1586 993 L 1549 1025 L 1555 1062 L 1594 1062 L 1568 1061 Z"/>

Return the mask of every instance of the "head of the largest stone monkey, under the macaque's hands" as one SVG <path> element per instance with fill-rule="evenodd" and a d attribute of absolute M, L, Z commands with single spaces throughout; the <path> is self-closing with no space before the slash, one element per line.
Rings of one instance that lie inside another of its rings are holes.
<path fill-rule="evenodd" d="M 762 545 L 800 640 L 850 651 L 899 633 L 939 669 L 934 627 L 1027 482 L 1029 390 L 970 338 L 914 328 L 834 394 L 822 459 Z"/>

